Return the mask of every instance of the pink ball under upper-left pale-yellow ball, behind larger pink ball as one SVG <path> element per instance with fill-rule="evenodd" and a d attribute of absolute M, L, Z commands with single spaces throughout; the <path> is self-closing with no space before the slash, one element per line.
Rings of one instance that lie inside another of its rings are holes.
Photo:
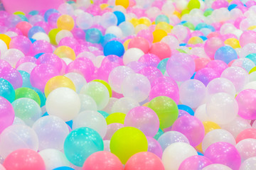
<path fill-rule="evenodd" d="M 55 67 L 55 69 L 58 69 L 58 71 L 60 72 L 63 64 L 61 62 L 61 59 L 57 56 L 54 55 L 53 53 L 45 53 L 43 55 L 41 55 L 38 60 L 36 61 L 36 64 L 50 64 L 53 67 Z"/>

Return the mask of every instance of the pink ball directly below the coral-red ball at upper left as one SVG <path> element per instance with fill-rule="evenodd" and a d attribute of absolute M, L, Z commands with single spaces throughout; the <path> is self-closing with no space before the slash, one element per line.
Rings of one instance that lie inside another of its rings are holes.
<path fill-rule="evenodd" d="M 32 46 L 31 40 L 29 40 L 27 37 L 23 35 L 18 35 L 14 38 L 11 38 L 11 42 L 9 47 L 10 48 L 16 48 L 18 50 L 21 50 L 24 55 L 28 55 L 30 52 Z"/>

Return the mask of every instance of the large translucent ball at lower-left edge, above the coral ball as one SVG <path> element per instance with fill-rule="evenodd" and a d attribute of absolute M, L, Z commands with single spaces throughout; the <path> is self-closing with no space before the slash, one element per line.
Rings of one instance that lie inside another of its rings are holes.
<path fill-rule="evenodd" d="M 6 158 L 16 149 L 38 150 L 38 137 L 36 132 L 26 125 L 11 125 L 0 135 L 1 157 Z"/>

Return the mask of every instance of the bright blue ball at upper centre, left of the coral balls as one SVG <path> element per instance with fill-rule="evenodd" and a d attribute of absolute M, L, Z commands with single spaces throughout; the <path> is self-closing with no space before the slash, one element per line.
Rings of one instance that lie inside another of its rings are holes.
<path fill-rule="evenodd" d="M 121 57 L 124 55 L 124 45 L 122 45 L 121 42 L 117 40 L 112 40 L 110 42 L 107 42 L 107 44 L 104 46 L 104 55 L 117 55 Z"/>

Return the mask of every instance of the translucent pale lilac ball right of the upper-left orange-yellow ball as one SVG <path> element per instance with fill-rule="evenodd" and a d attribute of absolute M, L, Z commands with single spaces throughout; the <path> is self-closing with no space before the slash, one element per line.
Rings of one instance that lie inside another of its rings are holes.
<path fill-rule="evenodd" d="M 81 28 L 82 30 L 87 30 L 92 26 L 93 18 L 90 13 L 84 12 L 78 15 L 75 22 L 78 28 Z"/>

